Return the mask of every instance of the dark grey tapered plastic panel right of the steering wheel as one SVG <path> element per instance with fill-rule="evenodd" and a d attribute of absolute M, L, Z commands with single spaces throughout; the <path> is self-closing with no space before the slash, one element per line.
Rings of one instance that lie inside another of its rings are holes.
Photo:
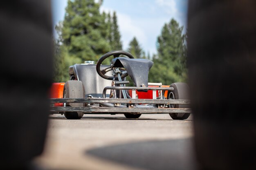
<path fill-rule="evenodd" d="M 135 86 L 141 87 L 141 84 L 148 86 L 148 71 L 153 66 L 153 62 L 148 59 L 130 59 L 126 57 L 117 57 L 111 61 L 113 67 L 124 67 L 130 75 Z"/>

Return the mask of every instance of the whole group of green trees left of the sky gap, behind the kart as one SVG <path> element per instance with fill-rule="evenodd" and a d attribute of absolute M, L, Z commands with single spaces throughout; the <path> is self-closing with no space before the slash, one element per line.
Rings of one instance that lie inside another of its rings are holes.
<path fill-rule="evenodd" d="M 122 49 L 117 16 L 99 13 L 99 3 L 94 0 L 69 0 L 65 19 L 56 25 L 58 33 L 54 56 L 54 82 L 69 79 L 69 66 L 85 60 L 97 62 L 103 54 Z M 103 64 L 109 64 L 107 60 Z"/>

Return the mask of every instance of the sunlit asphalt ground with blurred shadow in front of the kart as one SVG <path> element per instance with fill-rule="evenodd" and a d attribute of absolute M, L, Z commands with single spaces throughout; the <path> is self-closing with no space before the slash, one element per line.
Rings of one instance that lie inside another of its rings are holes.
<path fill-rule="evenodd" d="M 51 115 L 45 151 L 34 163 L 47 170 L 193 170 L 192 119 Z"/>

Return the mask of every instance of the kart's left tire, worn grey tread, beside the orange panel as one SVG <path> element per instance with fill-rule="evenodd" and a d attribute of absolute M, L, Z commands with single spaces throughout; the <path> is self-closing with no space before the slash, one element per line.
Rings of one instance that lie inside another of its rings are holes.
<path fill-rule="evenodd" d="M 69 80 L 64 85 L 63 98 L 84 98 L 85 90 L 81 81 Z M 84 107 L 84 103 L 66 103 L 66 107 Z M 65 112 L 67 119 L 81 119 L 83 112 Z"/>

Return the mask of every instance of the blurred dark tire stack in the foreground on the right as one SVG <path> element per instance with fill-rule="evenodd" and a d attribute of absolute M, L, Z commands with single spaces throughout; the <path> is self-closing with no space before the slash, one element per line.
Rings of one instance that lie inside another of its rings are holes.
<path fill-rule="evenodd" d="M 189 85 L 200 169 L 256 169 L 255 16 L 255 0 L 189 1 Z"/>

